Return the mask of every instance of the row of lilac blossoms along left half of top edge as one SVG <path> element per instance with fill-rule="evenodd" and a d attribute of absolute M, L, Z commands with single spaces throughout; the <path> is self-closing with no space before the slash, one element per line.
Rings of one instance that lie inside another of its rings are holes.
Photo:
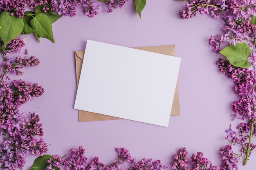
<path fill-rule="evenodd" d="M 121 8 L 127 0 L 98 0 L 103 2 L 107 7 L 107 12 L 110 13 L 117 7 Z M 83 7 L 84 15 L 94 17 L 99 14 L 99 4 L 95 4 L 92 0 L 1 0 L 0 13 L 8 11 L 10 15 L 18 15 L 22 18 L 25 15 L 25 8 L 30 7 L 35 9 L 42 6 L 42 11 L 53 11 L 62 16 L 76 15 L 76 9 L 79 6 Z"/>

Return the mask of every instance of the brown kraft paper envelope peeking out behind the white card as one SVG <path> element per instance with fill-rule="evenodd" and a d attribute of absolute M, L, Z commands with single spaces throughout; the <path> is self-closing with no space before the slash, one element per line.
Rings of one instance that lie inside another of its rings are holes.
<path fill-rule="evenodd" d="M 154 53 L 160 53 L 165 55 L 175 56 L 175 45 L 166 45 L 166 46 L 146 46 L 146 47 L 135 47 L 134 49 L 140 49 L 144 51 L 150 51 Z M 75 60 L 76 60 L 76 84 L 78 86 L 84 51 L 75 51 Z M 108 115 L 101 115 L 98 113 L 87 112 L 83 110 L 78 110 L 79 121 L 99 121 L 99 120 L 114 120 L 121 119 L 119 117 L 112 117 Z M 179 91 L 178 84 L 176 85 L 173 106 L 171 109 L 171 116 L 180 115 L 180 99 L 179 99 Z"/>

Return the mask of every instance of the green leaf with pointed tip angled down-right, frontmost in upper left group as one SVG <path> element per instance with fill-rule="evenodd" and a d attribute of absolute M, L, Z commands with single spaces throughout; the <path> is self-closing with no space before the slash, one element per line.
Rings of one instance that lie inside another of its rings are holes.
<path fill-rule="evenodd" d="M 30 26 L 36 30 L 36 35 L 38 37 L 43 37 L 54 42 L 52 33 L 52 22 L 45 13 L 38 13 L 36 16 L 30 20 Z"/>

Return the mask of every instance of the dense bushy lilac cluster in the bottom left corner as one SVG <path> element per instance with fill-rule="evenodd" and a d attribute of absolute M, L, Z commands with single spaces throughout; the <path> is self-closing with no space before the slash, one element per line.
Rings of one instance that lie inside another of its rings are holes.
<path fill-rule="evenodd" d="M 15 119 L 14 119 L 15 118 Z M 18 167 L 22 169 L 25 164 L 25 157 L 29 150 L 32 154 L 44 155 L 48 150 L 47 143 L 42 138 L 39 140 L 34 136 L 42 135 L 42 124 L 39 124 L 39 117 L 34 113 L 31 119 L 24 121 L 23 114 L 16 114 L 0 125 L 1 135 L 4 136 L 3 143 L 0 144 L 1 168 L 13 170 Z M 25 124 L 24 122 L 27 122 Z"/>

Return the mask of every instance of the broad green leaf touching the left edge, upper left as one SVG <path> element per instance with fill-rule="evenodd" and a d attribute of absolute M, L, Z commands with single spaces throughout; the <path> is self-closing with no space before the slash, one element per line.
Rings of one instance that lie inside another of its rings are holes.
<path fill-rule="evenodd" d="M 11 16 L 9 12 L 0 13 L 0 38 L 4 46 L 22 33 L 24 22 L 17 15 Z"/>

